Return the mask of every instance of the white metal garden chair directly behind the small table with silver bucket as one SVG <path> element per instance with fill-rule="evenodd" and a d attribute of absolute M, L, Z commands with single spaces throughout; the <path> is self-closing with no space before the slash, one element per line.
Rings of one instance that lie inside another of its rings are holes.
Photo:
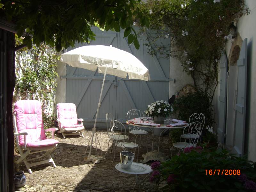
<path fill-rule="evenodd" d="M 119 135 L 116 134 L 115 130 L 119 131 Z M 139 161 L 139 145 L 137 143 L 125 141 L 126 129 L 124 125 L 119 121 L 112 120 L 110 122 L 110 132 L 113 137 L 113 141 L 114 141 L 113 143 L 115 145 L 113 161 L 115 160 L 115 157 L 116 157 L 116 147 L 119 147 L 119 148 L 122 148 L 123 151 L 134 148 L 134 153 L 136 152 L 136 148 L 138 148 L 138 155 L 137 155 L 137 162 L 138 162 Z M 121 138 L 124 138 L 124 139 L 122 140 Z"/>

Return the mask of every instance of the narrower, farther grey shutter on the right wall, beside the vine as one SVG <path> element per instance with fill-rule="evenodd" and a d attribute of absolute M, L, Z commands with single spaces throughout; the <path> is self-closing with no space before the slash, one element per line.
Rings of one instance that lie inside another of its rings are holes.
<path fill-rule="evenodd" d="M 225 125 L 226 125 L 226 106 L 227 106 L 227 71 L 228 62 L 225 52 L 222 52 L 220 58 L 220 95 L 219 95 L 219 123 L 218 140 L 224 143 Z"/>

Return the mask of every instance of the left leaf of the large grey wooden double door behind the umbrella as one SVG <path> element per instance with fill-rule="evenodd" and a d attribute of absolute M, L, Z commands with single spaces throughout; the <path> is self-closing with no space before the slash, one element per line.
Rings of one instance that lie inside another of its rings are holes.
<path fill-rule="evenodd" d="M 101 44 L 109 46 L 112 44 L 112 46 L 117 47 L 117 34 L 115 32 L 110 31 L 109 33 L 105 33 L 97 28 L 93 28 L 93 32 L 96 34 L 96 40 L 91 41 L 89 45 Z M 88 44 L 76 44 L 75 47 L 84 45 Z M 76 104 L 77 115 L 84 119 L 86 126 L 93 126 L 100 98 L 103 76 L 104 75 L 98 73 L 97 70 L 89 71 L 83 68 L 74 68 L 67 65 L 66 102 Z M 105 126 L 105 123 L 102 122 L 105 122 L 107 112 L 112 113 L 114 117 L 116 116 L 115 82 L 116 76 L 106 76 L 98 116 L 98 126 L 100 127 Z"/>

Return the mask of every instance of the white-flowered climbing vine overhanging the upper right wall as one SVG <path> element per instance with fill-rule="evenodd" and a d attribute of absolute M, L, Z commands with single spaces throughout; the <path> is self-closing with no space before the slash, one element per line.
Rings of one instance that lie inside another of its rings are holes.
<path fill-rule="evenodd" d="M 229 26 L 249 14 L 244 0 L 148 0 L 140 8 L 150 20 L 149 29 L 157 31 L 150 36 L 150 30 L 141 30 L 150 42 L 148 52 L 178 58 L 196 89 L 209 94 L 212 102 L 221 52 L 232 40 Z M 156 44 L 160 37 L 171 37 L 171 52 Z"/>

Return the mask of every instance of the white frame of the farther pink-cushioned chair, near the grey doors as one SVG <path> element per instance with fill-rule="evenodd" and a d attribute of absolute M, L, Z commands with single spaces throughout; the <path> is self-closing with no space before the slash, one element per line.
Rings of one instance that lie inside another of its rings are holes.
<path fill-rule="evenodd" d="M 57 109 L 57 121 L 59 123 L 59 131 L 57 133 L 61 133 L 64 139 L 66 138 L 65 135 L 80 135 L 81 137 L 84 137 L 82 133 L 82 131 L 84 130 L 84 124 L 83 124 L 84 119 L 77 119 L 77 121 L 81 122 L 81 127 L 63 128 L 61 124 L 61 120 L 59 119 L 59 116 L 58 116 L 58 109 Z"/>

